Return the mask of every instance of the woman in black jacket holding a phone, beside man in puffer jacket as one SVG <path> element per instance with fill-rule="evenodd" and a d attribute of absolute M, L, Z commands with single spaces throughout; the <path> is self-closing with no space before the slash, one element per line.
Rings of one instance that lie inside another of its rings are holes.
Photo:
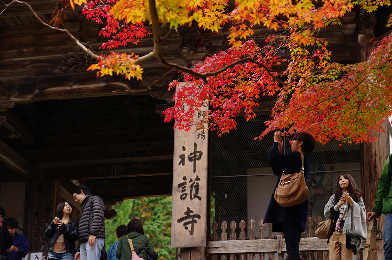
<path fill-rule="evenodd" d="M 43 233 L 46 238 L 50 238 L 47 259 L 74 260 L 79 223 L 71 219 L 71 202 L 61 201 L 57 205 L 56 215 L 57 217 Z"/>

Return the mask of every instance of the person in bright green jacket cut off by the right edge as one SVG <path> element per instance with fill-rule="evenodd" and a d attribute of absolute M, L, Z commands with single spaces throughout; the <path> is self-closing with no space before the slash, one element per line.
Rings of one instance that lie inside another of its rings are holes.
<path fill-rule="evenodd" d="M 371 220 L 385 214 L 384 223 L 384 259 L 392 260 L 392 154 L 385 162 L 383 172 L 378 180 L 377 198 L 371 212 L 366 218 Z"/>

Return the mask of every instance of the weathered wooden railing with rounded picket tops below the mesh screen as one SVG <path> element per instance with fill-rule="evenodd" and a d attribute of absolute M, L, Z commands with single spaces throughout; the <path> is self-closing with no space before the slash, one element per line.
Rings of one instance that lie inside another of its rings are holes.
<path fill-rule="evenodd" d="M 300 242 L 300 254 L 302 259 L 305 258 L 305 255 L 307 260 L 329 259 L 329 245 L 327 244 L 327 240 L 314 237 L 314 227 L 316 223 L 320 221 L 322 221 L 320 216 L 315 219 L 315 222 L 313 218 L 308 219 L 307 228 L 305 232 L 302 233 Z M 263 220 L 260 220 L 258 225 L 260 229 L 258 235 L 256 236 L 256 222 L 251 220 L 247 228 L 248 235 L 246 236 L 246 223 L 242 220 L 239 223 L 240 232 L 239 237 L 237 237 L 235 233 L 237 224 L 235 221 L 230 223 L 230 230 L 228 230 L 226 221 L 223 221 L 220 225 L 220 240 L 218 240 L 218 223 L 214 221 L 211 228 L 211 240 L 207 241 L 205 253 L 210 257 L 211 260 L 218 260 L 218 256 L 220 256 L 220 260 L 246 260 L 247 255 L 249 256 L 249 260 L 255 260 L 256 254 L 259 257 L 259 260 L 265 260 L 265 254 L 268 254 L 269 260 L 274 260 L 275 253 L 277 253 L 279 260 L 283 260 L 284 253 L 286 252 L 286 244 L 283 238 L 283 234 L 278 233 L 278 235 L 274 237 L 274 233 L 272 232 L 272 224 L 269 223 L 267 224 L 269 227 L 269 232 L 268 236 L 266 237 L 266 227 L 263 224 Z M 368 258 L 370 253 L 374 254 L 374 249 L 376 250 L 377 256 L 377 247 L 374 247 L 372 244 L 372 241 L 375 241 L 376 239 L 374 231 L 374 237 L 372 235 L 372 229 L 374 229 L 373 226 L 373 221 L 370 221 L 368 225 L 368 239 L 362 242 L 360 250 L 356 255 L 357 260 L 363 260 L 364 248 L 365 254 L 367 254 L 365 256 L 365 260 L 377 259 L 377 257 Z"/>

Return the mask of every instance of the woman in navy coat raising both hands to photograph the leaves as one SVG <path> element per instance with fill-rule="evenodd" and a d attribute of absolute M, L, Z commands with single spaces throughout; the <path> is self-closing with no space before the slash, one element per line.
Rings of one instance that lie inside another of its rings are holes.
<path fill-rule="evenodd" d="M 285 174 L 298 173 L 301 171 L 303 165 L 305 182 L 308 182 L 309 172 L 311 170 L 309 154 L 314 150 L 315 144 L 311 134 L 300 132 L 293 138 L 291 152 L 282 154 L 283 141 L 280 136 L 280 131 L 275 132 L 274 144 L 267 151 L 272 170 L 278 176 L 274 193 L 283 170 Z M 286 240 L 287 260 L 301 260 L 299 243 L 301 232 L 305 231 L 308 219 L 309 199 L 306 198 L 304 202 L 295 206 L 282 207 L 276 202 L 274 193 L 268 205 L 264 223 L 272 223 L 272 230 L 274 232 L 283 232 Z"/>

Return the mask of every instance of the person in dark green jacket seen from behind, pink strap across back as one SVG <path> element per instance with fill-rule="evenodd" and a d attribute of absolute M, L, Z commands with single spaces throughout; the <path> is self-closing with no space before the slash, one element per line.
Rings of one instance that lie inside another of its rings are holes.
<path fill-rule="evenodd" d="M 128 232 L 120 238 L 117 246 L 116 256 L 119 260 L 131 260 L 132 251 L 128 239 L 132 239 L 135 253 L 144 260 L 157 259 L 157 254 L 154 251 L 153 244 L 150 239 L 144 234 L 143 224 L 138 219 L 132 219 L 126 226 Z M 150 257 L 150 258 L 148 258 Z"/>

